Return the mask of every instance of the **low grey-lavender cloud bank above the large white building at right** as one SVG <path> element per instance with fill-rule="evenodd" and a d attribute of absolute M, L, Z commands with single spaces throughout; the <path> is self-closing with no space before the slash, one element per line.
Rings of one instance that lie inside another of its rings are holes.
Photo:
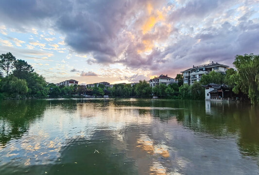
<path fill-rule="evenodd" d="M 246 27 L 244 27 L 246 26 Z M 221 27 L 209 27 L 195 37 L 182 36 L 175 44 L 168 47 L 163 57 L 169 57 L 165 62 L 156 66 L 159 70 L 177 73 L 177 71 L 198 66 L 208 60 L 232 66 L 235 55 L 245 53 L 258 54 L 259 24 L 252 21 L 232 26 L 225 22 Z M 172 69 L 173 68 L 173 69 Z"/>

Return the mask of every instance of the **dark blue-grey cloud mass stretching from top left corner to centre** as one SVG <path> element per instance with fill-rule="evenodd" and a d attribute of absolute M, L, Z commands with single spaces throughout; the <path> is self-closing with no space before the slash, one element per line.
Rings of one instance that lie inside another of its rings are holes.
<path fill-rule="evenodd" d="M 125 21 L 147 2 L 158 4 L 155 0 L 2 0 L 0 15 L 10 26 L 47 22 L 47 27 L 66 36 L 73 50 L 92 53 L 96 62 L 105 64 L 118 56 L 115 43 Z"/>

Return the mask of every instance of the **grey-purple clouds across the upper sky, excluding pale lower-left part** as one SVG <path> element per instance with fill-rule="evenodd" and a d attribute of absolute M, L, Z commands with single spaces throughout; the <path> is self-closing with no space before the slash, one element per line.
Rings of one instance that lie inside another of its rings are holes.
<path fill-rule="evenodd" d="M 191 0 L 163 13 L 162 23 L 143 34 L 148 3 L 162 11 L 161 0 L 1 0 L 0 24 L 26 30 L 52 28 L 77 53 L 91 53 L 88 64 L 121 63 L 127 67 L 172 74 L 208 60 L 232 65 L 236 54 L 258 54 L 259 22 L 249 8 L 237 12 L 241 0 Z M 249 1 L 249 4 L 256 1 Z M 231 7 L 231 8 L 230 8 Z M 236 7 L 235 7 L 236 8 Z M 245 9 L 245 8 L 244 8 Z M 165 10 L 165 9 L 164 9 Z M 243 13 L 237 20 L 231 16 Z M 234 23 L 234 24 L 233 24 Z M 197 28 L 200 28 L 197 30 Z M 134 36 L 134 37 L 133 37 Z M 150 54 L 141 54 L 149 43 Z M 155 43 L 165 43 L 162 48 Z M 82 72 L 81 76 L 96 76 Z M 134 77 L 126 77 L 134 80 Z"/>

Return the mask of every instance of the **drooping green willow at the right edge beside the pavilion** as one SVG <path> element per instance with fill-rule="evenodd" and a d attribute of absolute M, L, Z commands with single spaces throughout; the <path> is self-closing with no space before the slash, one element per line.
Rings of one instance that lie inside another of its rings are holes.
<path fill-rule="evenodd" d="M 240 89 L 248 94 L 252 104 L 259 103 L 259 55 L 236 55 L 233 64 L 238 71 L 234 93 Z"/>

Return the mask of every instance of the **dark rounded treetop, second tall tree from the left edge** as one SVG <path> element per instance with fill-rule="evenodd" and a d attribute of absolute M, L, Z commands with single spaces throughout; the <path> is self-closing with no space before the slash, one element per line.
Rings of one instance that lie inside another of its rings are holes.
<path fill-rule="evenodd" d="M 33 67 L 26 61 L 19 59 L 14 62 L 14 68 L 13 74 L 20 79 L 25 79 L 29 73 L 34 71 Z"/>

